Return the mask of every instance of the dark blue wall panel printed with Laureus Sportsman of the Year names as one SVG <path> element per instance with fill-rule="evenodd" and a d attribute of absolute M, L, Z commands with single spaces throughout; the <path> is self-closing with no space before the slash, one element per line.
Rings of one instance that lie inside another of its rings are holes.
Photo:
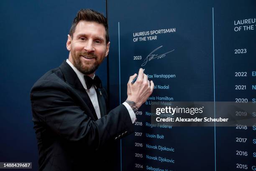
<path fill-rule="evenodd" d="M 140 67 L 155 83 L 120 142 L 119 170 L 255 171 L 256 1 L 111 0 L 108 21 L 110 106 Z M 193 115 L 207 120 L 154 121 L 153 104 L 176 102 L 207 104 Z M 231 122 L 208 120 L 220 117 Z"/>

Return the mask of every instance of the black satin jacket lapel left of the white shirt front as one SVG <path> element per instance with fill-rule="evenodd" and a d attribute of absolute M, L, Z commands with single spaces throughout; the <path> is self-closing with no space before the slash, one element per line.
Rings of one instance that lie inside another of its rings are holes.
<path fill-rule="evenodd" d="M 74 91 L 83 99 L 87 108 L 90 109 L 90 112 L 92 115 L 91 117 L 93 118 L 93 120 L 97 120 L 98 119 L 97 114 L 92 105 L 90 97 L 88 96 L 86 90 L 84 89 L 82 83 L 78 79 L 77 74 L 74 72 L 72 67 L 70 67 L 66 61 L 64 61 L 59 68 L 61 69 L 61 72 L 64 75 L 64 79 L 66 83 L 74 87 Z M 85 112 L 88 112 L 88 111 L 85 111 Z"/>

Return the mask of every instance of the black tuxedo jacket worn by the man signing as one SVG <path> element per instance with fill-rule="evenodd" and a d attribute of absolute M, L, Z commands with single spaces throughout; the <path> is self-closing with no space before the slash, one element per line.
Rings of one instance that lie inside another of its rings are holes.
<path fill-rule="evenodd" d="M 33 85 L 31 106 L 40 171 L 105 170 L 112 161 L 111 144 L 133 132 L 126 107 L 121 104 L 107 114 L 106 91 L 98 88 L 96 92 L 100 119 L 65 61 Z"/>

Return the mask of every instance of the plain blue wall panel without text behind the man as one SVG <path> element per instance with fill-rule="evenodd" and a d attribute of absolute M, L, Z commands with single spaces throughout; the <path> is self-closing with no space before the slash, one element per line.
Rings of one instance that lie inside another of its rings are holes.
<path fill-rule="evenodd" d="M 105 0 L 1 1 L 0 162 L 32 162 L 38 170 L 30 89 L 67 59 L 67 34 L 81 8 L 106 14 Z M 106 87 L 106 59 L 96 74 Z"/>

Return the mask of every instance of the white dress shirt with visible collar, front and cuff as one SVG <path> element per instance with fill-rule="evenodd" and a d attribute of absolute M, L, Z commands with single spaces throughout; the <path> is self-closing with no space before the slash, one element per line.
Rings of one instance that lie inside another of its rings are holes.
<path fill-rule="evenodd" d="M 70 67 L 72 67 L 74 72 L 77 74 L 77 77 L 79 78 L 79 80 L 82 83 L 85 91 L 87 92 L 88 96 L 90 97 L 90 100 L 91 100 L 92 105 L 95 109 L 95 112 L 97 114 L 98 119 L 100 119 L 101 118 L 101 116 L 100 116 L 100 107 L 99 107 L 99 102 L 98 102 L 95 86 L 92 86 L 90 89 L 87 89 L 87 86 L 86 86 L 85 80 L 84 80 L 84 74 L 82 72 L 80 72 L 76 67 L 74 67 L 74 65 L 69 61 L 69 59 L 67 59 L 66 62 L 70 65 Z M 95 77 L 95 75 L 92 77 L 92 79 L 94 77 Z M 130 117 L 131 117 L 131 121 L 132 121 L 132 123 L 134 123 L 135 120 L 136 120 L 136 115 L 133 112 L 133 109 L 131 108 L 131 106 L 127 102 L 123 102 L 123 105 L 127 108 L 128 112 L 130 114 Z"/>

